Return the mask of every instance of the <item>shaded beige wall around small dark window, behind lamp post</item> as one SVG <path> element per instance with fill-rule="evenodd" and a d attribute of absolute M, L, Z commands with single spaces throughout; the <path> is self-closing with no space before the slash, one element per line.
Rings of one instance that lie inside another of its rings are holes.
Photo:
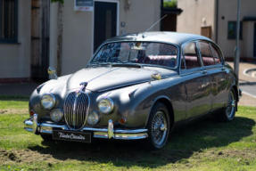
<path fill-rule="evenodd" d="M 256 1 L 241 1 L 241 20 L 244 16 L 256 17 Z M 227 57 L 235 56 L 235 39 L 227 39 L 227 23 L 236 20 L 237 1 L 219 0 L 219 37 L 218 43 Z M 241 40 L 241 57 L 252 58 L 253 56 L 253 27 L 254 22 L 243 22 L 243 40 Z"/>

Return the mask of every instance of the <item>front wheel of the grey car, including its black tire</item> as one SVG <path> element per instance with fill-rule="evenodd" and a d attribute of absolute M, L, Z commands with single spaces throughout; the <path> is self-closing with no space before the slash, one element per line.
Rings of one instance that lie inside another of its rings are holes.
<path fill-rule="evenodd" d="M 169 142 L 169 110 L 161 103 L 154 104 L 147 124 L 148 147 L 152 150 L 159 150 Z"/>

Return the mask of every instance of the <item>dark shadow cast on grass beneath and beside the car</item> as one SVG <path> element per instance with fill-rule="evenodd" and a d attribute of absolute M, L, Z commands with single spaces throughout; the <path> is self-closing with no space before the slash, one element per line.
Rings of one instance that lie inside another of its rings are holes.
<path fill-rule="evenodd" d="M 227 146 L 252 134 L 254 120 L 237 117 L 230 123 L 206 119 L 183 126 L 171 135 L 171 142 L 161 151 L 148 151 L 145 142 L 95 141 L 42 142 L 31 146 L 32 151 L 51 154 L 54 159 L 78 159 L 99 163 L 111 162 L 116 167 L 159 167 L 169 163 L 186 163 L 194 152 Z"/>

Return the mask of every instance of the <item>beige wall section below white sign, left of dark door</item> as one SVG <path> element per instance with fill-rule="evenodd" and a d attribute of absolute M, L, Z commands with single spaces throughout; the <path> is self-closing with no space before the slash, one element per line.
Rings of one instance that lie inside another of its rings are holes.
<path fill-rule="evenodd" d="M 63 9 L 62 74 L 87 65 L 93 54 L 93 12 L 75 12 L 74 1 L 65 0 Z"/>

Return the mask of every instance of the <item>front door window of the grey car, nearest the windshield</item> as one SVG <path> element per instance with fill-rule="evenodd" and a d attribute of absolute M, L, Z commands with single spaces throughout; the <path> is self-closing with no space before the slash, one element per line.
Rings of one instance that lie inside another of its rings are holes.
<path fill-rule="evenodd" d="M 188 43 L 184 46 L 183 57 L 186 61 L 186 69 L 201 67 L 201 62 L 196 53 L 196 46 L 194 42 Z"/>

